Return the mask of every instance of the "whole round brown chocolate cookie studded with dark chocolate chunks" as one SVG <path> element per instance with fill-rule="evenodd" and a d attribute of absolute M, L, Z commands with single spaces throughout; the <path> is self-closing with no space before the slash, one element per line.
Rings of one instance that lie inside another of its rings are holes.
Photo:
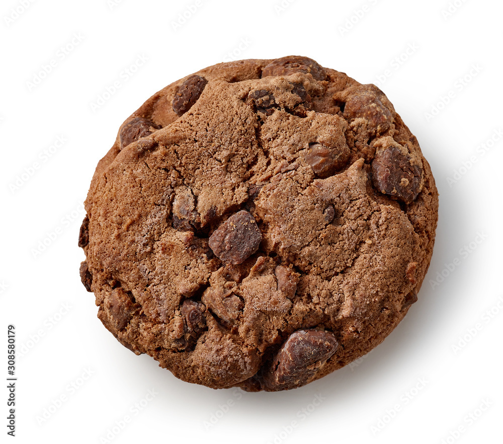
<path fill-rule="evenodd" d="M 124 346 L 212 388 L 303 386 L 417 300 L 438 193 L 381 90 L 289 56 L 148 99 L 99 162 L 78 245 Z"/>

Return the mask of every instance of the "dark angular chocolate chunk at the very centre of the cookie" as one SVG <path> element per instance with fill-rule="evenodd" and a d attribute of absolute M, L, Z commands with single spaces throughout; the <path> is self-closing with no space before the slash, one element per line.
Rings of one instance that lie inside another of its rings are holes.
<path fill-rule="evenodd" d="M 213 232 L 208 245 L 223 262 L 242 264 L 259 249 L 261 240 L 255 219 L 248 211 L 241 210 Z"/>

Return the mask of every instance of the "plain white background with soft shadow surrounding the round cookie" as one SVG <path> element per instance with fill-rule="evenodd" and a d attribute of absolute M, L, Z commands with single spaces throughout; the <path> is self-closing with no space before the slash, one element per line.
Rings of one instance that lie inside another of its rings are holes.
<path fill-rule="evenodd" d="M 0 342 L 14 324 L 18 350 L 17 436 L 6 434 L 4 388 L 2 442 L 500 442 L 501 3 L 197 5 L 2 2 Z M 96 317 L 78 275 L 81 202 L 150 95 L 220 61 L 289 54 L 380 85 L 417 136 L 440 192 L 430 271 L 384 343 L 315 383 L 251 394 L 187 384 Z"/>

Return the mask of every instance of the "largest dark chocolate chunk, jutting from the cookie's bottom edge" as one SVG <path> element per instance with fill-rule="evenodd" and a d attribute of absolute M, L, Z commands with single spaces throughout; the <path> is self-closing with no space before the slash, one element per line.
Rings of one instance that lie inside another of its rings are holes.
<path fill-rule="evenodd" d="M 288 390 L 306 384 L 338 346 L 336 337 L 328 331 L 292 333 L 264 370 L 264 389 Z"/>

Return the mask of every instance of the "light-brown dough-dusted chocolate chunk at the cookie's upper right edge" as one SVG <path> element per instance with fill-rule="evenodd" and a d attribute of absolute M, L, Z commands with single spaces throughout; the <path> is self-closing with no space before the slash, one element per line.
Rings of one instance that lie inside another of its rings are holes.
<path fill-rule="evenodd" d="M 347 120 L 358 117 L 367 119 L 372 128 L 371 132 L 375 135 L 382 134 L 389 128 L 393 122 L 393 116 L 374 89 L 378 90 L 373 85 L 361 85 L 349 94 L 343 115 Z"/>

